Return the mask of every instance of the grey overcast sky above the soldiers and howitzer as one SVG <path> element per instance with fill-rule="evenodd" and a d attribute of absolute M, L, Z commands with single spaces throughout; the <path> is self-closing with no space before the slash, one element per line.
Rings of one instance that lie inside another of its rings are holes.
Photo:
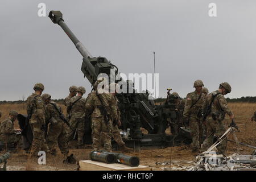
<path fill-rule="evenodd" d="M 60 10 L 65 23 L 93 56 L 104 56 L 122 73 L 153 73 L 159 96 L 166 89 L 185 97 L 201 79 L 210 92 L 229 82 L 226 97 L 256 96 L 256 1 L 235 0 L 23 0 L 0 2 L 0 100 L 28 97 L 42 82 L 52 98 L 71 85 L 90 83 L 82 56 L 38 4 Z M 208 5 L 217 5 L 210 18 Z"/>

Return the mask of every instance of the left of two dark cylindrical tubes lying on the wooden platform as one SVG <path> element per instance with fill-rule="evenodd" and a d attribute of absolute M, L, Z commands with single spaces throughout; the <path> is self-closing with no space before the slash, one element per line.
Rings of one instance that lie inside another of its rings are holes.
<path fill-rule="evenodd" d="M 116 161 L 116 157 L 114 154 L 110 152 L 98 152 L 98 151 L 90 152 L 90 159 L 104 162 L 107 164 L 115 163 Z"/>

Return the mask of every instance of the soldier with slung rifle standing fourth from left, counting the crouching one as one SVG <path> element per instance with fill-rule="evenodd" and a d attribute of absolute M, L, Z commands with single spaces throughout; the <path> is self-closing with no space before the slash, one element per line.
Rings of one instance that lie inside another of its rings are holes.
<path fill-rule="evenodd" d="M 72 97 L 68 102 L 67 110 L 70 110 L 69 125 L 71 129 L 68 129 L 68 140 L 72 140 L 73 134 L 77 134 L 77 148 L 83 148 L 83 137 L 85 131 L 85 103 L 86 99 L 82 97 L 85 94 L 85 88 L 79 86 L 77 88 L 77 96 Z"/>

